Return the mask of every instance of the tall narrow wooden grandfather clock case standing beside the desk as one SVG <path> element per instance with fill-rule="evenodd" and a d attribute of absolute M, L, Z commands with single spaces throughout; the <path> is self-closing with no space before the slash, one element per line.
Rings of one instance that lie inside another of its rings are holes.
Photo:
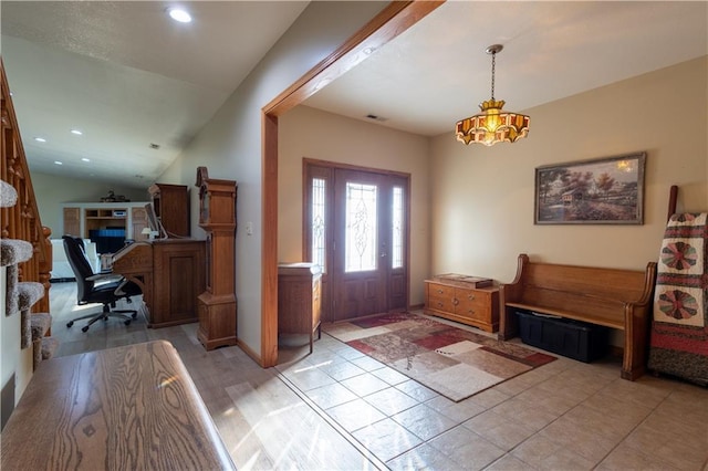
<path fill-rule="evenodd" d="M 199 295 L 197 338 L 210 350 L 236 345 L 236 189 L 233 180 L 209 178 L 197 169 L 199 227 L 207 232 L 206 291 Z"/>

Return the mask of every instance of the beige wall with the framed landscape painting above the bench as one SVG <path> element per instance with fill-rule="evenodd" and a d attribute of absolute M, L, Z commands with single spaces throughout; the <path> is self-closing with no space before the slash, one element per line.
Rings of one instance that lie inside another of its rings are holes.
<path fill-rule="evenodd" d="M 655 261 L 671 185 L 680 211 L 708 211 L 707 69 L 704 56 L 528 109 L 529 137 L 514 144 L 433 139 L 431 272 L 510 282 L 522 252 L 636 270 Z M 647 154 L 643 226 L 534 226 L 535 167 L 635 151 Z"/>

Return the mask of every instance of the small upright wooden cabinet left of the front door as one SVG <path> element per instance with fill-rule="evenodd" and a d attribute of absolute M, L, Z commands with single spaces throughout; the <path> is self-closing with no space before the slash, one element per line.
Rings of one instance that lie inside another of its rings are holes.
<path fill-rule="evenodd" d="M 310 353 L 314 332 L 320 337 L 322 272 L 314 263 L 278 265 L 278 337 L 308 335 Z"/>

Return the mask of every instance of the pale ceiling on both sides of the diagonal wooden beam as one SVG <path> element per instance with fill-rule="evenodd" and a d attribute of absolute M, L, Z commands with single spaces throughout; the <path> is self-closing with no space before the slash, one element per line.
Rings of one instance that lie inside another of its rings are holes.
<path fill-rule="evenodd" d="M 2 2 L 2 60 L 33 170 L 144 188 L 308 2 L 183 6 L 189 24 L 162 1 Z M 490 44 L 504 45 L 496 97 L 524 111 L 706 55 L 707 23 L 704 1 L 449 1 L 304 104 L 451 136 L 490 97 Z"/>

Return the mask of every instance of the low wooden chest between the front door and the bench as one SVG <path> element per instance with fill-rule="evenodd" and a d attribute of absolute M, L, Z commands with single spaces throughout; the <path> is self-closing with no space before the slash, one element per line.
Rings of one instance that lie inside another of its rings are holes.
<path fill-rule="evenodd" d="M 476 287 L 473 282 L 435 276 L 425 281 L 425 314 L 436 315 L 487 332 L 499 329 L 499 287 Z"/>

